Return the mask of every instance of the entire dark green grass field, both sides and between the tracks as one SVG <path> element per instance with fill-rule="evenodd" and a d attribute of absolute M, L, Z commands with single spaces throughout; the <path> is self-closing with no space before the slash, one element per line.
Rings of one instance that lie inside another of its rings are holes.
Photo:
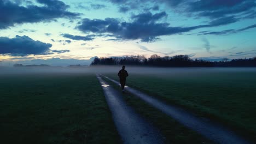
<path fill-rule="evenodd" d="M 126 69 L 127 85 L 223 123 L 241 135 L 255 136 L 255 69 Z M 20 74 L 15 70 L 0 71 L 1 143 L 121 142 L 92 73 L 107 71 L 107 76 L 118 80 L 119 67 L 75 69 L 74 73 L 63 68 L 43 73 L 21 69 Z M 124 94 L 124 99 L 153 122 L 167 142 L 211 143 L 132 94 Z"/>

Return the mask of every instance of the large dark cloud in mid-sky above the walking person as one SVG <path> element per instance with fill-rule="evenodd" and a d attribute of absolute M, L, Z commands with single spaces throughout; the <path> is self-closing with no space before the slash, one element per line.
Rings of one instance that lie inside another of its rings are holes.
<path fill-rule="evenodd" d="M 113 34 L 113 37 L 121 40 L 141 39 L 143 42 L 152 42 L 159 40 L 158 37 L 161 35 L 181 34 L 198 28 L 221 26 L 236 20 L 230 16 L 213 20 L 208 25 L 171 27 L 170 23 L 160 22 L 163 17 L 167 17 L 165 11 L 155 14 L 147 12 L 132 15 L 131 22 L 113 18 L 106 18 L 104 20 L 83 19 L 82 22 L 79 22 L 77 29 L 84 33 L 92 32 L 103 35 L 110 33 Z"/>

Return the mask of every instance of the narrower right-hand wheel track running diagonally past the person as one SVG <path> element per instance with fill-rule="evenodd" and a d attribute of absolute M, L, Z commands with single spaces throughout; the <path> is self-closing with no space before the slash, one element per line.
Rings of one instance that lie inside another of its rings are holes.
<path fill-rule="evenodd" d="M 113 81 L 117 85 L 120 85 L 118 81 L 110 79 L 107 76 L 104 77 L 110 81 Z M 211 122 L 209 119 L 196 117 L 192 113 L 188 113 L 179 107 L 168 105 L 134 88 L 126 87 L 125 90 L 146 101 L 156 109 L 166 113 L 168 116 L 176 119 L 186 127 L 197 131 L 198 133 L 217 143 L 249 143 L 248 141 L 242 139 L 242 137 L 234 134 L 231 130 Z"/>

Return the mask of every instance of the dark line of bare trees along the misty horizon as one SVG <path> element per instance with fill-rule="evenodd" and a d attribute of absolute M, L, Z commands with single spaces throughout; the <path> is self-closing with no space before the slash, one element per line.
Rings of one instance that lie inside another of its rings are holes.
<path fill-rule="evenodd" d="M 202 59 L 191 59 L 188 55 L 160 57 L 156 54 L 146 58 L 143 55 L 126 57 L 95 57 L 91 65 L 140 65 L 155 67 L 256 67 L 256 57 L 248 59 L 223 59 L 210 62 Z"/>

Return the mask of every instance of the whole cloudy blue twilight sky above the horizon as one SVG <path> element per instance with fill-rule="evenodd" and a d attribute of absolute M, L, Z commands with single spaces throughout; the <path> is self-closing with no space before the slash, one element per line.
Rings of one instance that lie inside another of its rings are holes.
<path fill-rule="evenodd" d="M 0 11 L 5 65 L 256 56 L 256 0 L 0 0 Z"/>

